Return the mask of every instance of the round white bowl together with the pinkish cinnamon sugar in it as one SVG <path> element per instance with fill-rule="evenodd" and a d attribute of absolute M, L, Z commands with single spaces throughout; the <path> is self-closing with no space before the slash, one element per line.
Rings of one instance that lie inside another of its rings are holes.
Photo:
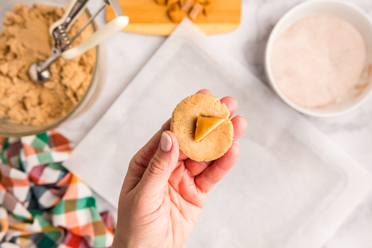
<path fill-rule="evenodd" d="M 331 117 L 355 109 L 372 94 L 372 18 L 346 1 L 295 6 L 270 34 L 265 72 L 299 112 Z"/>

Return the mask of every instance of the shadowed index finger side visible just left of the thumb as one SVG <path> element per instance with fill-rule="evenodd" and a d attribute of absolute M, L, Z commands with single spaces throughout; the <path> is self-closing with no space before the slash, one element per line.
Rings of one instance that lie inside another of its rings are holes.
<path fill-rule="evenodd" d="M 153 138 L 147 142 L 147 144 L 137 152 L 136 155 L 129 162 L 128 172 L 125 175 L 122 191 L 123 193 L 128 193 L 141 181 L 143 174 L 145 173 L 151 158 L 154 157 L 156 153 L 161 134 L 164 131 L 170 130 L 170 119 L 161 127 L 161 129 L 155 133 Z"/>

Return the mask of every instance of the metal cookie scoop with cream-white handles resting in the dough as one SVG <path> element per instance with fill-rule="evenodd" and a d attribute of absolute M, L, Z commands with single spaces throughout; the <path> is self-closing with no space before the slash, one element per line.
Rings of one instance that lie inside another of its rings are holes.
<path fill-rule="evenodd" d="M 128 16 L 124 16 L 118 0 L 104 0 L 102 6 L 93 13 L 89 20 L 80 28 L 80 30 L 69 39 L 67 36 L 68 30 L 71 28 L 76 18 L 83 12 L 89 0 L 71 0 L 65 14 L 57 22 L 53 23 L 49 28 L 49 33 L 53 36 L 55 45 L 52 48 L 52 55 L 46 61 L 38 61 L 32 64 L 29 68 L 31 78 L 39 83 L 43 83 L 51 77 L 49 66 L 59 57 L 65 59 L 73 59 L 89 49 L 97 46 L 107 38 L 125 28 L 129 23 Z M 80 45 L 72 48 L 72 42 L 83 32 L 83 30 L 93 21 L 93 19 L 105 8 L 106 5 L 111 5 L 116 18 L 107 23 L 106 26 L 94 32 Z"/>

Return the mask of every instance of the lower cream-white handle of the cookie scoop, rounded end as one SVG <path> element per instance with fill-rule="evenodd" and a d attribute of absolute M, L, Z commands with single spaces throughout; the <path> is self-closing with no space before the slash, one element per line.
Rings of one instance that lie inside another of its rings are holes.
<path fill-rule="evenodd" d="M 128 23 L 129 23 L 128 16 L 116 17 L 111 22 L 107 23 L 106 26 L 100 28 L 98 31 L 94 32 L 91 36 L 89 36 L 86 40 L 81 42 L 80 45 L 62 52 L 61 57 L 65 59 L 73 59 L 80 56 L 81 54 L 93 48 L 94 46 L 99 45 L 100 43 L 108 39 L 110 36 L 121 31 L 128 25 Z"/>

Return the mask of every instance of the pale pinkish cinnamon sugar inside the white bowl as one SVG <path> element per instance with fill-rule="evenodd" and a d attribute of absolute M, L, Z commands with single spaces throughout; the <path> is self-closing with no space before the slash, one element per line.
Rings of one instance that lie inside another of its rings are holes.
<path fill-rule="evenodd" d="M 333 16 L 297 21 L 273 49 L 272 69 L 280 91 L 308 108 L 339 102 L 356 86 L 365 65 L 362 35 Z"/>

